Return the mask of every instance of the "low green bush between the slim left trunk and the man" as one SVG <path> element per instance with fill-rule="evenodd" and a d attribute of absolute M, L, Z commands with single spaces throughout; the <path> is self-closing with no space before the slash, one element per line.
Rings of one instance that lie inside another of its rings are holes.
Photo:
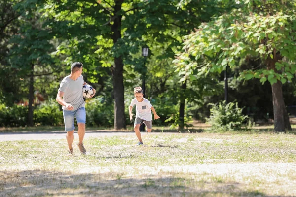
<path fill-rule="evenodd" d="M 63 111 L 60 109 L 60 104 L 54 99 L 49 99 L 37 106 L 34 110 L 34 123 L 35 125 L 63 125 Z"/>

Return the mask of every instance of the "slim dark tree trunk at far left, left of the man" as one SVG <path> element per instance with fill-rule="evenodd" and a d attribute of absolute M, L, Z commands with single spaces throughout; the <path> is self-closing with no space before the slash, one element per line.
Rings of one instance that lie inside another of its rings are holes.
<path fill-rule="evenodd" d="M 34 65 L 31 65 L 31 74 L 29 81 L 29 112 L 28 112 L 28 126 L 33 126 L 33 100 L 34 100 Z"/>

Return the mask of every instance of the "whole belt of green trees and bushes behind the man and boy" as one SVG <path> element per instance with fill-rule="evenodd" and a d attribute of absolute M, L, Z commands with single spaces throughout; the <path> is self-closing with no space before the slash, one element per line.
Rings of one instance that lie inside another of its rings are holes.
<path fill-rule="evenodd" d="M 97 90 L 86 99 L 88 127 L 133 125 L 128 106 L 142 86 L 160 116 L 155 126 L 183 131 L 209 118 L 210 103 L 233 102 L 229 113 L 242 109 L 244 124 L 291 130 L 294 0 L 3 0 L 0 7 L 1 127 L 62 126 L 59 83 L 82 62 Z"/>

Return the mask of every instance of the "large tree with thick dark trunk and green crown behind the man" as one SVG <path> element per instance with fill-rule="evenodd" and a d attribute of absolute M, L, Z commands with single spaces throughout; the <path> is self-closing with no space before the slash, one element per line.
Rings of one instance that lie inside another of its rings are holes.
<path fill-rule="evenodd" d="M 110 67 L 114 93 L 114 128 L 125 128 L 124 65 L 137 65 L 141 47 L 169 40 L 180 44 L 176 35 L 184 24 L 184 11 L 177 9 L 178 0 L 79 0 L 47 1 L 45 10 L 59 39 L 67 39 L 59 53 L 71 49 L 71 57 L 97 59 L 96 66 Z M 54 8 L 53 8 L 54 7 Z M 183 14 L 183 15 L 182 15 Z M 188 15 L 188 13 L 186 14 Z M 179 24 L 179 25 L 178 25 Z M 166 32 L 179 27 L 173 36 Z M 178 36 L 178 35 L 177 35 Z M 89 46 L 88 49 L 85 46 Z M 69 48 L 69 49 L 66 49 Z M 76 53 L 74 53 L 74 51 Z M 172 49 L 168 49 L 171 58 Z M 67 53 L 67 52 L 66 52 Z M 135 54 L 139 54 L 138 57 Z M 91 57 L 91 58 L 90 58 Z M 82 61 L 83 62 L 83 61 Z"/>

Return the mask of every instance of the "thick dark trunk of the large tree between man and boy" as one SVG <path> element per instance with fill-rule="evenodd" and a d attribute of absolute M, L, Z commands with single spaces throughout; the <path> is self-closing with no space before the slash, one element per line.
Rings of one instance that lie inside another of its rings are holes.
<path fill-rule="evenodd" d="M 123 0 L 116 0 L 114 6 L 114 23 L 111 26 L 112 39 L 114 45 L 121 38 L 121 18 L 119 15 Z M 124 114 L 124 85 L 123 85 L 123 60 L 122 57 L 114 58 L 113 69 L 113 88 L 114 88 L 114 129 L 125 129 L 125 114 Z"/>

